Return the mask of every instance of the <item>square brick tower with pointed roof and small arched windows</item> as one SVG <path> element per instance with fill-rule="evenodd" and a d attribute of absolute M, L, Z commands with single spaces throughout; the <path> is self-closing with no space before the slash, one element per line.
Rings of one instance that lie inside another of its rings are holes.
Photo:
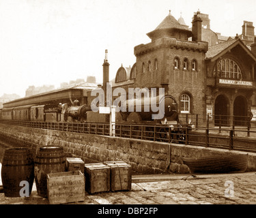
<path fill-rule="evenodd" d="M 197 28 L 190 31 L 183 18 L 176 20 L 169 12 L 156 29 L 147 33 L 152 42 L 134 47 L 137 57 L 135 87 L 165 88 L 165 93 L 179 102 L 183 97 L 190 97 L 193 105 L 188 109 L 179 104 L 178 112 L 203 114 L 205 69 L 202 63 L 208 43 L 200 40 L 201 22 L 194 22 Z M 193 41 L 188 40 L 190 37 Z"/>

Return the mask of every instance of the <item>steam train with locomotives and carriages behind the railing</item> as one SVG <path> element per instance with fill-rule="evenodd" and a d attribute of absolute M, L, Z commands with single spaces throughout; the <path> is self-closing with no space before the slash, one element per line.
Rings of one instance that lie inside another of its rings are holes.
<path fill-rule="evenodd" d="M 151 103 L 156 102 L 158 112 L 154 112 Z M 134 101 L 134 102 L 132 102 Z M 134 108 L 131 110 L 130 106 Z M 141 108 L 141 112 L 136 111 L 136 107 Z M 143 128 L 148 137 L 152 131 L 158 133 L 158 138 L 169 138 L 172 134 L 179 142 L 185 140 L 185 126 L 179 120 L 177 113 L 177 102 L 171 95 L 159 96 L 153 99 L 145 97 L 141 101 L 136 99 L 126 100 L 126 110 L 120 110 L 115 114 L 115 124 L 134 125 L 134 130 Z M 163 110 L 163 111 L 162 111 Z M 152 114 L 163 113 L 161 119 L 152 119 Z M 20 120 L 20 121 L 42 121 L 42 122 L 80 122 L 80 123 L 109 123 L 108 114 L 100 114 L 91 110 L 87 104 L 79 105 L 75 100 L 72 106 L 68 104 L 46 104 L 46 105 L 28 105 L 14 108 L 3 108 L 0 111 L 2 120 Z M 154 129 L 154 127 L 156 129 Z M 193 127 L 189 125 L 189 127 Z M 126 131 L 123 127 L 122 131 Z M 139 132 L 139 131 L 138 131 Z"/>

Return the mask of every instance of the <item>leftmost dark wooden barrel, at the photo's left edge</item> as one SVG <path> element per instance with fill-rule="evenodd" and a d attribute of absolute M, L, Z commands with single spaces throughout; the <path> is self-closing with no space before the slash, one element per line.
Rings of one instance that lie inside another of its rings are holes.
<path fill-rule="evenodd" d="M 29 183 L 30 195 L 34 179 L 33 155 L 30 149 L 5 149 L 1 178 L 5 196 L 13 198 L 20 197 L 20 189 L 24 187 L 24 183 L 20 184 L 21 181 L 27 181 Z"/>

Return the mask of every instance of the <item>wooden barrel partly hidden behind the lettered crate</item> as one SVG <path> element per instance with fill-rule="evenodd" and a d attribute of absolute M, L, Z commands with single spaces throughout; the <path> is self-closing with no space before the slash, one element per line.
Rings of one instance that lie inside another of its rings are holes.
<path fill-rule="evenodd" d="M 42 146 L 35 155 L 35 185 L 38 196 L 47 198 L 47 174 L 66 171 L 62 147 Z"/>

